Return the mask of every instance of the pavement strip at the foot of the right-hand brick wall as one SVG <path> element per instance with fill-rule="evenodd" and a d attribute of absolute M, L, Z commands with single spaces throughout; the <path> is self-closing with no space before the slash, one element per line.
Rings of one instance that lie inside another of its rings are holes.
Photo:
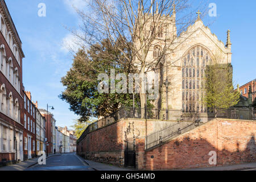
<path fill-rule="evenodd" d="M 256 171 L 256 163 L 215 166 L 208 168 L 176 169 L 175 171 Z"/>

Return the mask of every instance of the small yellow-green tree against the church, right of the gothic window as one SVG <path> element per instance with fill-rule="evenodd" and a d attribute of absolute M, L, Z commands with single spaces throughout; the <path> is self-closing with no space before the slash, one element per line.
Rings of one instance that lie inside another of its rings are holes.
<path fill-rule="evenodd" d="M 233 88 L 233 69 L 231 64 L 220 64 L 221 54 L 208 65 L 205 71 L 205 97 L 203 102 L 217 116 L 217 109 L 228 109 L 240 100 L 240 93 Z"/>

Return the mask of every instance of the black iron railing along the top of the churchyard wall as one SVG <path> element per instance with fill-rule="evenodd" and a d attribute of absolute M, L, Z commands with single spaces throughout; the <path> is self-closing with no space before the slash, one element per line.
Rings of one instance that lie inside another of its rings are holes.
<path fill-rule="evenodd" d="M 213 111 L 197 112 L 184 111 L 179 109 L 145 109 L 134 107 L 121 107 L 114 113 L 99 119 L 90 124 L 82 133 L 78 140 L 80 142 L 88 133 L 108 126 L 122 118 L 132 119 L 156 119 L 165 121 L 187 121 L 194 122 L 195 117 L 199 117 L 201 122 L 208 122 L 210 118 L 226 118 L 226 119 L 247 119 L 256 120 L 256 111 L 251 109 L 217 109 L 217 114 Z"/>

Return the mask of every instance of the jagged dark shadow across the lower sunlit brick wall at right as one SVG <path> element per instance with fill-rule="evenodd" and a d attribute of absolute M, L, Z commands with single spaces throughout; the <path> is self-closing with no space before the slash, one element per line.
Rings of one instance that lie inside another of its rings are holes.
<path fill-rule="evenodd" d="M 146 152 L 145 169 L 200 168 L 256 162 L 254 133 L 251 134 L 249 142 L 243 146 L 241 140 L 222 143 L 222 147 L 218 146 L 222 150 L 217 150 L 206 139 L 184 136 L 182 140 L 171 140 L 163 146 Z M 213 154 L 217 155 L 216 164 Z"/>

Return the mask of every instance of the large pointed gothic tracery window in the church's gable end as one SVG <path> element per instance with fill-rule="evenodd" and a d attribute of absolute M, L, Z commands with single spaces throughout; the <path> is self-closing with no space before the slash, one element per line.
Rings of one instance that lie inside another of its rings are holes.
<path fill-rule="evenodd" d="M 204 95 L 204 71 L 212 61 L 206 49 L 197 46 L 183 57 L 182 67 L 182 109 L 185 111 L 205 111 L 202 104 Z"/>

